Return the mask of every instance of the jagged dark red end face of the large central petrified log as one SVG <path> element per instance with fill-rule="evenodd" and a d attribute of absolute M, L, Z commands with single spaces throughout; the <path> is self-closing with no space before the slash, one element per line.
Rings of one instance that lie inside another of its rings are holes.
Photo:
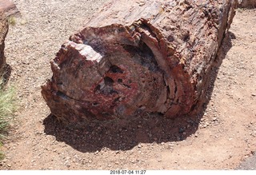
<path fill-rule="evenodd" d="M 190 75 L 177 58 L 168 58 L 174 48 L 143 20 L 87 27 L 70 37 L 51 62 L 52 80 L 42 86 L 54 115 L 80 122 L 127 118 L 141 110 L 166 117 L 190 111 Z"/>

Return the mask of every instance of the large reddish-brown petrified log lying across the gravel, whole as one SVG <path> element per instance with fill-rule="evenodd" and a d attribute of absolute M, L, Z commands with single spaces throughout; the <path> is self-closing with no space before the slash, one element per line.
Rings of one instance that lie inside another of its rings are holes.
<path fill-rule="evenodd" d="M 177 117 L 202 98 L 233 0 L 115 0 L 62 45 L 42 86 L 51 112 L 79 122 L 138 111 Z"/>

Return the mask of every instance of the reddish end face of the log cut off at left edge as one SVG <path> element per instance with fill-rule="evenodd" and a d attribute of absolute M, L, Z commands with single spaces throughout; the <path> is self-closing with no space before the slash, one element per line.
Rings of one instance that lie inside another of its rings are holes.
<path fill-rule="evenodd" d="M 0 11 L 0 70 L 6 64 L 6 58 L 4 55 L 5 49 L 5 38 L 8 32 L 8 22 L 6 20 L 6 15 Z"/>

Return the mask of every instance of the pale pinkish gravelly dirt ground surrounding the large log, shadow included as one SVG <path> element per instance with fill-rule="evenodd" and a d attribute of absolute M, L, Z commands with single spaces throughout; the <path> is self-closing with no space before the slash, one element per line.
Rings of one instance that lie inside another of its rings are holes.
<path fill-rule="evenodd" d="M 256 150 L 256 10 L 238 10 L 202 115 L 71 129 L 50 116 L 40 86 L 62 43 L 105 1 L 14 2 L 22 18 L 10 26 L 6 60 L 20 109 L 0 169 L 234 169 Z"/>

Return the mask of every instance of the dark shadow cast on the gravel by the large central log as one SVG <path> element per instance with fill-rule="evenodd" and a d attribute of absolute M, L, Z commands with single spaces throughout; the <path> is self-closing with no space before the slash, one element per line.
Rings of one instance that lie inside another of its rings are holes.
<path fill-rule="evenodd" d="M 157 113 L 141 113 L 129 120 L 94 121 L 83 125 L 81 128 L 74 125 L 62 125 L 61 121 L 50 114 L 43 122 L 45 133 L 53 135 L 57 141 L 64 141 L 83 153 L 95 152 L 104 147 L 112 150 L 128 150 L 133 149 L 139 143 L 162 143 L 186 139 L 198 129 L 214 89 L 218 68 L 230 50 L 231 39 L 233 38 L 235 38 L 234 34 L 230 32 L 226 34 L 218 58 L 209 72 L 209 81 L 206 83 L 208 88 L 206 94 L 202 95 L 206 98 L 200 101 L 190 115 L 166 119 Z"/>

